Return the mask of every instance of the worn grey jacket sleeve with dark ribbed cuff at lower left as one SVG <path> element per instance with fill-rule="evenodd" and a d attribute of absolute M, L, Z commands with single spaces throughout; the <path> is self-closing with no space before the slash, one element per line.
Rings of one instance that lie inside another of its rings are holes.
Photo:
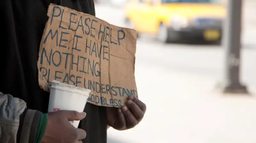
<path fill-rule="evenodd" d="M 34 143 L 42 112 L 0 92 L 0 143 Z"/>

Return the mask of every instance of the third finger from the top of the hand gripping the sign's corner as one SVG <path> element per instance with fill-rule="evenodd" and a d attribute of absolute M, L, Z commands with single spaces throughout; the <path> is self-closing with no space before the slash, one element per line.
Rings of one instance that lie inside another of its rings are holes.
<path fill-rule="evenodd" d="M 123 106 L 122 111 L 124 113 L 127 128 L 133 128 L 138 124 L 137 119 L 132 115 L 132 112 L 128 109 L 127 106 Z"/>

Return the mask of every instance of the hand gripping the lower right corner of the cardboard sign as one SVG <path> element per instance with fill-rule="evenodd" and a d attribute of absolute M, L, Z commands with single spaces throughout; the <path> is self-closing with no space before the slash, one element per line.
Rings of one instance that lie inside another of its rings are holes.
<path fill-rule="evenodd" d="M 122 108 L 107 107 L 108 125 L 116 130 L 127 130 L 136 126 L 146 112 L 146 105 L 137 97 L 129 96 Z"/>

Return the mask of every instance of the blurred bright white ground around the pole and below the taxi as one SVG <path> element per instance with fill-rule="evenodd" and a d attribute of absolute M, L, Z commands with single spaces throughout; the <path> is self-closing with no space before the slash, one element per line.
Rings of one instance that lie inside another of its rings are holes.
<path fill-rule="evenodd" d="M 98 18 L 125 26 L 121 9 L 97 5 L 96 10 Z M 250 26 L 243 33 L 241 81 L 254 92 L 256 28 Z M 147 113 L 131 130 L 110 128 L 108 143 L 255 143 L 254 95 L 223 96 L 214 89 L 223 73 L 223 52 L 220 46 L 138 39 L 135 77 Z"/>

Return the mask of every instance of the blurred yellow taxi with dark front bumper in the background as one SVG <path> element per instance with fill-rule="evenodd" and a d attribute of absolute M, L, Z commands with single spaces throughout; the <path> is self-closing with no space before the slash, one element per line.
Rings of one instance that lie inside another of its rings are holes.
<path fill-rule="evenodd" d="M 129 0 L 124 13 L 130 28 L 162 42 L 220 41 L 226 8 L 213 0 Z"/>

